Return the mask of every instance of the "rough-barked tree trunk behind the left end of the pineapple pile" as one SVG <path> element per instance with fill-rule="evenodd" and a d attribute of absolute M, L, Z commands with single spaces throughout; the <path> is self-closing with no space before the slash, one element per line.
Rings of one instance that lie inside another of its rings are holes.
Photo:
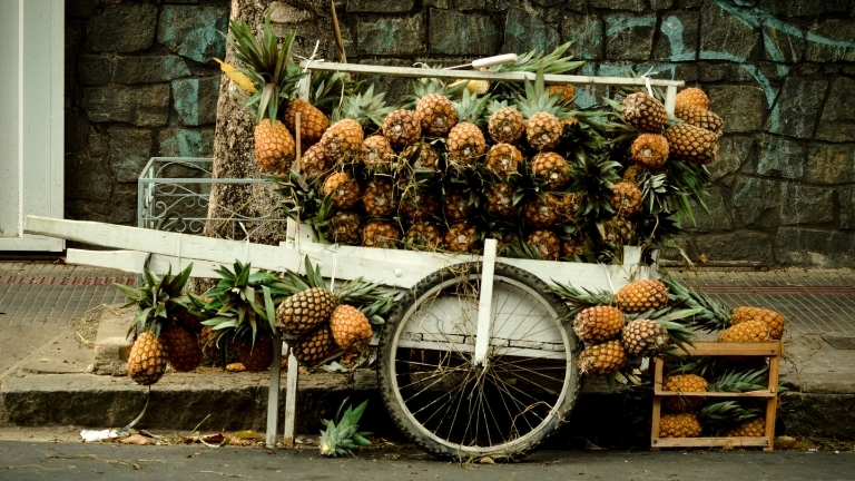
<path fill-rule="evenodd" d="M 272 22 L 281 37 L 289 29 L 297 29 L 294 52 L 297 60 L 309 57 L 320 40 L 316 58 L 333 60 L 335 51 L 330 14 L 330 3 L 323 1 L 272 1 L 232 0 L 230 19 L 244 19 L 258 35 L 264 16 L 273 9 Z M 229 51 L 225 61 L 236 65 Z M 271 173 L 263 170 L 255 159 L 253 129 L 249 115 L 228 94 L 230 80 L 225 75 L 219 85 L 217 100 L 217 126 L 214 139 L 214 177 L 263 179 Z M 271 186 L 261 183 L 252 185 L 214 184 L 210 192 L 208 218 L 234 219 L 209 220 L 205 235 L 234 239 L 246 238 L 236 220 L 242 218 L 283 218 L 278 208 L 279 198 Z M 243 222 L 254 243 L 276 245 L 285 239 L 285 222 Z"/>

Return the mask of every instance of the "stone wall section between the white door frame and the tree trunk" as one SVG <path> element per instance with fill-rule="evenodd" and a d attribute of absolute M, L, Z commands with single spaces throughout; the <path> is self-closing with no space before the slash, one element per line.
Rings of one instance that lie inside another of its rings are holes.
<path fill-rule="evenodd" d="M 137 222 L 153 156 L 210 156 L 228 0 L 67 0 L 66 217 Z"/>

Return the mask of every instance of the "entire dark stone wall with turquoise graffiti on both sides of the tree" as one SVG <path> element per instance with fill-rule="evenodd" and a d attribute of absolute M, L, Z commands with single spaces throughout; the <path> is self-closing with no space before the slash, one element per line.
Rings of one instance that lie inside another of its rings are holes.
<path fill-rule="evenodd" d="M 67 210 L 72 218 L 129 222 L 136 197 L 128 183 L 144 158 L 208 153 L 216 70 L 188 32 L 225 19 L 227 6 L 71 7 L 95 2 L 69 0 L 69 55 L 79 63 L 69 118 L 79 127 L 67 134 Z M 330 26 L 318 13 L 328 0 L 274 4 L 283 28 Z M 681 240 L 689 256 L 855 266 L 849 0 L 338 0 L 336 7 L 352 62 L 454 65 L 572 41 L 571 52 L 588 60 L 581 73 L 652 68 L 699 86 L 727 126 L 711 166 L 710 215 L 698 209 L 697 227 Z M 210 12 L 205 22 L 203 11 Z M 312 46 L 312 38 L 299 39 L 302 52 Z M 320 52 L 335 60 L 328 41 Z M 382 87 L 392 99 L 406 92 L 401 81 Z M 581 89 L 578 104 L 602 94 Z M 105 196 L 112 203 L 88 200 Z"/>

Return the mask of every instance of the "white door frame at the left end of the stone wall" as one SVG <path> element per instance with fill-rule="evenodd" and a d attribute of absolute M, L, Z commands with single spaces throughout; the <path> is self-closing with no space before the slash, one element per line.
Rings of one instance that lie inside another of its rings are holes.
<path fill-rule="evenodd" d="M 28 214 L 62 218 L 65 0 L 0 0 L 0 251 L 60 252 L 23 235 Z"/>

